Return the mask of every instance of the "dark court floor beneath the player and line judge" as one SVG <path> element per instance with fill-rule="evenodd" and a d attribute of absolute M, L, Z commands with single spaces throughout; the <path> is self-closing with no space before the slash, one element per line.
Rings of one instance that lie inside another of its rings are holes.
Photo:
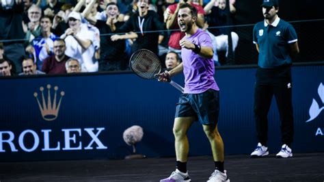
<path fill-rule="evenodd" d="M 175 168 L 175 158 L 94 159 L 73 161 L 0 162 L 0 181 L 159 181 Z M 189 157 L 192 181 L 206 181 L 211 156 Z M 230 181 L 324 181 L 324 153 L 294 153 L 277 159 L 226 156 Z"/>

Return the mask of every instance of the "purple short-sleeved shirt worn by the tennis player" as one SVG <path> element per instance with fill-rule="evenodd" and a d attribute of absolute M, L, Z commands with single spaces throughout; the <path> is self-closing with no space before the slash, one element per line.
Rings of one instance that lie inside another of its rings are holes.
<path fill-rule="evenodd" d="M 211 47 L 211 37 L 202 29 L 187 37 L 189 42 L 200 47 Z M 215 66 L 213 58 L 208 59 L 194 53 L 191 49 L 181 49 L 183 74 L 185 75 L 185 93 L 200 94 L 208 89 L 219 90 L 214 79 Z"/>

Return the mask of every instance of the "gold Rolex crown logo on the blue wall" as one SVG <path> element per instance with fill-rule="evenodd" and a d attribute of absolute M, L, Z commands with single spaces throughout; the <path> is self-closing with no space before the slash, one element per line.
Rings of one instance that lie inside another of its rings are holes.
<path fill-rule="evenodd" d="M 40 100 L 38 99 L 38 93 L 33 93 L 33 96 L 35 96 L 38 106 L 40 107 L 40 113 L 42 114 L 42 118 L 44 120 L 55 120 L 57 118 L 57 115 L 59 114 L 59 106 L 61 105 L 62 97 L 64 96 L 64 92 L 60 92 L 61 97 L 59 98 L 59 103 L 57 104 L 57 90 L 59 88 L 57 86 L 54 87 L 54 99 L 51 99 L 51 85 L 47 85 L 47 103 L 44 96 L 44 88 L 40 87 L 40 92 L 42 92 L 42 104 L 40 103 Z"/>

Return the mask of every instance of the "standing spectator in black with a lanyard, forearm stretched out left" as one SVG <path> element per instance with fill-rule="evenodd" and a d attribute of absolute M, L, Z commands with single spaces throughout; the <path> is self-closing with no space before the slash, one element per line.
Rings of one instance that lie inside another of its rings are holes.
<path fill-rule="evenodd" d="M 158 55 L 159 32 L 145 31 L 163 30 L 164 25 L 159 21 L 159 16 L 156 12 L 148 10 L 149 4 L 149 0 L 139 0 L 137 2 L 138 12 L 116 30 L 116 32 L 134 31 L 137 34 L 113 35 L 111 40 L 136 38 L 132 46 L 132 53 L 139 49 L 148 49 Z M 111 26 L 113 30 L 116 29 L 113 24 Z"/>

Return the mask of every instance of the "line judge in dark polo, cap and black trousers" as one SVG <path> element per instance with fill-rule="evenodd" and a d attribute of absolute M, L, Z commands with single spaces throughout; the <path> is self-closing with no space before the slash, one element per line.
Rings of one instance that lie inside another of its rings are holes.
<path fill-rule="evenodd" d="M 254 26 L 253 42 L 258 55 L 258 70 L 254 88 L 254 116 L 258 145 L 251 157 L 269 155 L 267 148 L 267 114 L 273 94 L 278 105 L 282 148 L 277 157 L 293 157 L 293 103 L 291 64 L 299 53 L 297 34 L 293 26 L 278 17 L 278 0 L 263 0 L 262 13 L 265 21 Z"/>

